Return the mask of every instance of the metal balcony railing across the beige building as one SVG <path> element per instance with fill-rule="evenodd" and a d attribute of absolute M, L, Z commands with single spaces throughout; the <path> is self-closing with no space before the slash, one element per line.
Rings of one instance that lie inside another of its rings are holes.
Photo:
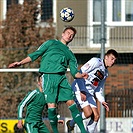
<path fill-rule="evenodd" d="M 69 44 L 75 53 L 87 53 L 99 51 L 101 47 L 101 27 L 74 26 L 77 34 Z M 133 51 L 133 27 L 132 26 L 105 26 L 105 48 L 114 48 L 118 52 Z"/>

